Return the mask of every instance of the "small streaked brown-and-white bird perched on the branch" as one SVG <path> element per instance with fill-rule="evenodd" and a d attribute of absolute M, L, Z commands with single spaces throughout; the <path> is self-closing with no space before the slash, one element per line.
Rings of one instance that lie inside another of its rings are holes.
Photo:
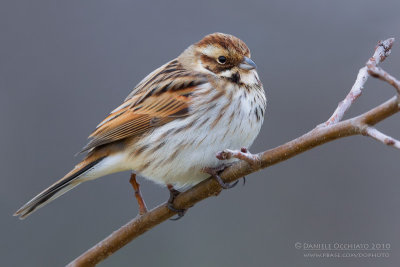
<path fill-rule="evenodd" d="M 267 99 L 250 50 L 239 38 L 213 33 L 140 81 L 89 136 L 85 158 L 63 178 L 23 205 L 24 219 L 77 185 L 131 171 L 140 214 L 147 211 L 136 174 L 170 190 L 214 177 L 239 160 L 218 158 L 226 148 L 249 153 L 264 121 Z"/>

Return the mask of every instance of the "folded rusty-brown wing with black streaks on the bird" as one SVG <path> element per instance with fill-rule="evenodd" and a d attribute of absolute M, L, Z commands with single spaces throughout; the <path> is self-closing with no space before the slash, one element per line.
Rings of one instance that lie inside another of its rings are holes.
<path fill-rule="evenodd" d="M 82 152 L 187 116 L 193 91 L 207 82 L 206 76 L 180 68 L 176 60 L 167 63 L 140 82 L 125 102 L 97 126 Z"/>

